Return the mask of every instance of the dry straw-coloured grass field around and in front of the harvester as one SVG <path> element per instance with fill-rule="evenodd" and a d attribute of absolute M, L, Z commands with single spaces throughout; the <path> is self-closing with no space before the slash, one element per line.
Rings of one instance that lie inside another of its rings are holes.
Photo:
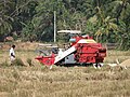
<path fill-rule="evenodd" d="M 130 52 L 108 51 L 105 64 L 130 58 Z M 0 52 L 0 97 L 129 97 L 130 69 L 57 67 L 51 70 L 35 60 L 36 53 L 18 51 L 26 67 L 10 66 L 9 52 Z M 4 59 L 3 59 L 4 57 Z M 34 66 L 30 67 L 29 64 Z M 5 65 L 5 66 L 4 66 Z"/>

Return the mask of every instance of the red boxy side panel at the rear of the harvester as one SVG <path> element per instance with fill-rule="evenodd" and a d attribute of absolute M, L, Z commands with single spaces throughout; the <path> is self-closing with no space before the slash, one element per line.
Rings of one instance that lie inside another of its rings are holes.
<path fill-rule="evenodd" d="M 103 63 L 106 51 L 101 53 L 102 48 L 101 43 L 79 43 L 75 58 L 77 63 Z M 101 54 L 104 55 L 100 56 Z"/>

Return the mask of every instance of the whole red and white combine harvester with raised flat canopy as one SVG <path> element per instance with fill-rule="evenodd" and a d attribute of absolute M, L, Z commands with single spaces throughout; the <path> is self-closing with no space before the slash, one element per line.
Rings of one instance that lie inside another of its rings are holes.
<path fill-rule="evenodd" d="M 52 51 L 52 54 L 49 56 L 38 56 L 36 59 L 47 66 L 93 64 L 95 68 L 98 66 L 101 67 L 101 63 L 106 57 L 106 48 L 101 43 L 96 43 L 89 36 L 79 36 L 81 32 L 77 30 L 61 30 L 57 32 L 75 33 L 77 36 L 69 39 L 68 48 L 64 48 L 64 51 L 58 48 L 56 52 Z"/>

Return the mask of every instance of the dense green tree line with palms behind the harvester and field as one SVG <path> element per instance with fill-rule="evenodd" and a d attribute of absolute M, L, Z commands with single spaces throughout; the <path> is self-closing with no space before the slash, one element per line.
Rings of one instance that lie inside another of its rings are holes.
<path fill-rule="evenodd" d="M 81 30 L 99 42 L 129 50 L 130 0 L 0 0 L 0 41 L 12 36 L 52 42 L 54 11 L 57 30 Z"/>

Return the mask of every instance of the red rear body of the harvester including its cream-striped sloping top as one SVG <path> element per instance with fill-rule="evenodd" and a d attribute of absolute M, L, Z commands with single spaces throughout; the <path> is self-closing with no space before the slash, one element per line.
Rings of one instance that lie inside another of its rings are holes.
<path fill-rule="evenodd" d="M 103 63 L 106 56 L 106 48 L 101 43 L 96 43 L 92 37 L 75 37 L 76 42 L 72 45 L 76 45 L 75 59 L 77 63 L 96 64 Z M 80 42 L 82 40 L 82 42 Z"/>

